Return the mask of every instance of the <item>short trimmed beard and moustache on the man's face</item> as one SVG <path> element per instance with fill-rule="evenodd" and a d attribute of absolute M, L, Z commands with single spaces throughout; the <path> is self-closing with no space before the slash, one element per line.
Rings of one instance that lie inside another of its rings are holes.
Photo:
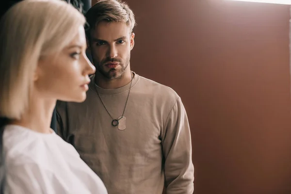
<path fill-rule="evenodd" d="M 96 62 L 93 59 L 93 64 L 96 66 L 96 70 L 104 77 L 107 78 L 108 80 L 115 80 L 115 79 L 121 79 L 124 74 L 125 74 L 125 70 L 129 65 L 129 58 L 130 56 L 128 56 L 128 58 L 126 58 L 126 60 L 124 61 L 124 63 L 122 62 L 122 60 L 120 59 L 116 59 L 116 58 L 106 58 L 104 60 L 102 60 L 101 62 Z M 96 63 L 95 63 L 96 62 Z M 120 69 L 115 69 L 115 68 L 111 68 L 109 71 L 105 71 L 104 67 L 106 63 L 118 63 L 121 68 Z"/>

